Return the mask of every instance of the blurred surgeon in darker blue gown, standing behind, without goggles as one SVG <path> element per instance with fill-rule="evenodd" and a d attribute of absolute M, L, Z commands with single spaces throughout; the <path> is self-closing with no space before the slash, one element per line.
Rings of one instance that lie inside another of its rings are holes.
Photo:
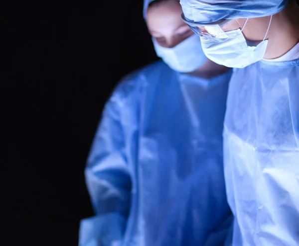
<path fill-rule="evenodd" d="M 107 102 L 88 158 L 96 216 L 80 246 L 222 246 L 232 225 L 222 130 L 231 71 L 206 58 L 177 0 L 147 0 L 155 62 Z"/>

